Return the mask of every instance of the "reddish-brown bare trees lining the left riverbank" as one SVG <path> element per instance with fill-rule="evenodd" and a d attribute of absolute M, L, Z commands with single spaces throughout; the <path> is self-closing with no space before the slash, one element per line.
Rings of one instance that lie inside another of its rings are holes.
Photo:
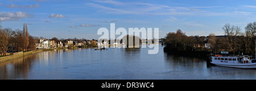
<path fill-rule="evenodd" d="M 10 53 L 20 51 L 30 51 L 35 49 L 35 43 L 38 37 L 31 36 L 28 33 L 27 24 L 23 24 L 23 30 L 12 28 L 0 28 L 0 53 L 6 56 L 7 51 Z"/>

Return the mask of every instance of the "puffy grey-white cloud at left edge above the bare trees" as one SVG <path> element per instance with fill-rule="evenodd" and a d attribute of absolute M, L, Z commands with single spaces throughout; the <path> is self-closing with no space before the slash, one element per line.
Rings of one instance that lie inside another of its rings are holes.
<path fill-rule="evenodd" d="M 18 11 L 16 13 L 0 13 L 0 22 L 8 20 L 19 20 L 23 18 L 31 18 L 33 15 Z"/>

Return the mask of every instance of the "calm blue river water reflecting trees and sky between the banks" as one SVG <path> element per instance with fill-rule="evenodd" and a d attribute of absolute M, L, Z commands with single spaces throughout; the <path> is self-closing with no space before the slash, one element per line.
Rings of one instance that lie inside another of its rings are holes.
<path fill-rule="evenodd" d="M 187 80 L 256 79 L 256 69 L 211 66 L 206 59 L 167 55 L 150 48 L 61 49 L 0 63 L 0 79 Z"/>

